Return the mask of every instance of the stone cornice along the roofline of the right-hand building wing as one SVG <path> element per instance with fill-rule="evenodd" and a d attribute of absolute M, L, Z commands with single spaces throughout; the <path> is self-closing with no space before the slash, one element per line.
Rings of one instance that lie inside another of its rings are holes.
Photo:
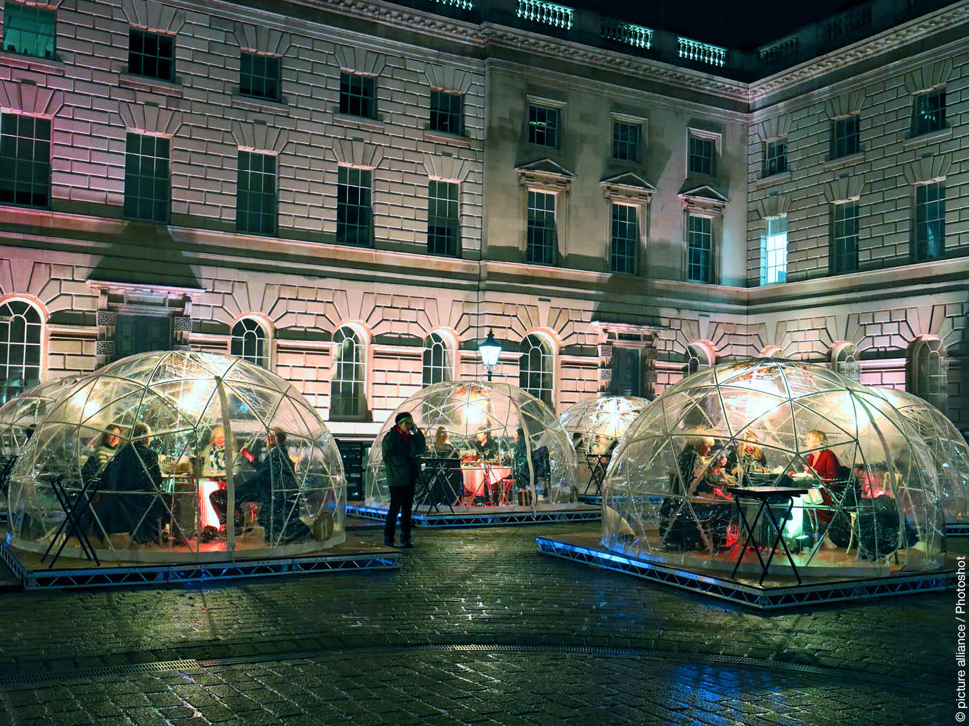
<path fill-rule="evenodd" d="M 859 63 L 896 47 L 922 40 L 926 36 L 967 20 L 969 20 L 969 0 L 962 0 L 962 2 L 928 15 L 922 15 L 922 17 L 896 25 L 852 45 L 837 48 L 826 55 L 812 58 L 794 68 L 785 69 L 773 76 L 756 81 L 749 87 L 749 100 L 753 102 L 785 88 L 825 76 L 832 71 L 837 71 L 853 63 Z"/>

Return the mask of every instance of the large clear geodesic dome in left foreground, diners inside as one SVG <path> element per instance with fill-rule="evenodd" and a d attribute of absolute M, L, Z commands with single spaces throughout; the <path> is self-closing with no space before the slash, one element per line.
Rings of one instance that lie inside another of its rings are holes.
<path fill-rule="evenodd" d="M 80 530 L 102 560 L 225 560 L 345 538 L 327 427 L 293 385 L 229 355 L 142 353 L 71 386 L 11 474 L 16 547 L 43 552 L 56 537 L 56 482 L 69 499 L 96 488 Z M 83 556 L 78 536 L 66 556 Z"/>

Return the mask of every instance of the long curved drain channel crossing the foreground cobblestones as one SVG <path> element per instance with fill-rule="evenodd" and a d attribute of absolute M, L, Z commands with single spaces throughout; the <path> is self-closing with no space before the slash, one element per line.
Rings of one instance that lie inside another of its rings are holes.
<path fill-rule="evenodd" d="M 903 679 L 886 678 L 882 674 L 868 674 L 841 668 L 795 663 L 767 658 L 753 658 L 743 655 L 728 655 L 724 653 L 681 652 L 678 650 L 652 650 L 646 648 L 605 648 L 595 646 L 552 646 L 536 645 L 502 645 L 494 643 L 462 643 L 453 645 L 398 645 L 398 646 L 360 646 L 357 648 L 338 648 L 331 650 L 299 650 L 290 652 L 265 652 L 252 655 L 236 655 L 225 658 L 211 658 L 197 660 L 186 658 L 183 660 L 159 660 L 147 663 L 124 663 L 118 665 L 93 666 L 89 668 L 61 669 L 37 671 L 34 673 L 0 674 L 0 688 L 16 685 L 40 685 L 52 682 L 85 681 L 87 679 L 105 676 L 139 676 L 158 673 L 179 673 L 182 671 L 204 670 L 207 668 L 224 668 L 236 665 L 249 665 L 271 661 L 310 660 L 313 658 L 334 655 L 376 655 L 403 654 L 422 652 L 515 652 L 541 653 L 559 652 L 576 655 L 611 656 L 619 658 L 649 658 L 655 660 L 687 661 L 691 663 L 710 663 L 718 665 L 734 665 L 745 668 L 759 668 L 772 671 L 794 671 L 823 676 L 830 681 L 869 681 L 883 685 L 891 681 L 895 688 L 923 690 L 924 684 L 915 684 Z"/>

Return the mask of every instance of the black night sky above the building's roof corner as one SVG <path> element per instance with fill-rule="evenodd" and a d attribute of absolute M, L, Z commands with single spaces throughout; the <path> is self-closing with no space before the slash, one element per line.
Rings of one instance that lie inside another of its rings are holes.
<path fill-rule="evenodd" d="M 573 0 L 595 10 L 697 41 L 730 48 L 764 45 L 861 0 Z"/>

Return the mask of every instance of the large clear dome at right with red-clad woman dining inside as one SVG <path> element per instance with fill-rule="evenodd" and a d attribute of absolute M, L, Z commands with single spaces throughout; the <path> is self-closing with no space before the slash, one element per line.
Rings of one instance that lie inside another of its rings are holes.
<path fill-rule="evenodd" d="M 751 359 L 667 389 L 612 457 L 604 544 L 733 568 L 741 527 L 732 486 L 806 490 L 781 520 L 802 573 L 919 570 L 944 559 L 942 498 L 925 443 L 884 398 L 825 367 Z M 786 499 L 772 499 L 778 518 Z M 756 502 L 741 504 L 752 518 Z M 791 574 L 780 549 L 771 572 Z M 748 552 L 739 572 L 760 571 Z"/>

